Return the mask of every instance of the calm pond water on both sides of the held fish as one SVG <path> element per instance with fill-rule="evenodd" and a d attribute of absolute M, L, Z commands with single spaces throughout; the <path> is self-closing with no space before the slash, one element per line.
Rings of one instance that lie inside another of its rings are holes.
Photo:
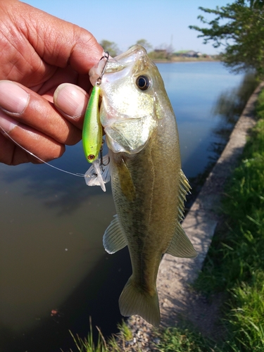
<path fill-rule="evenodd" d="M 158 64 L 180 133 L 187 177 L 213 156 L 218 97 L 237 87 L 221 63 Z M 82 145 L 54 165 L 83 173 Z M 111 187 L 87 187 L 47 165 L 0 165 L 0 351 L 68 351 L 89 315 L 103 334 L 120 321 L 118 297 L 131 269 L 127 249 L 109 256 L 102 235 L 115 214 Z"/>

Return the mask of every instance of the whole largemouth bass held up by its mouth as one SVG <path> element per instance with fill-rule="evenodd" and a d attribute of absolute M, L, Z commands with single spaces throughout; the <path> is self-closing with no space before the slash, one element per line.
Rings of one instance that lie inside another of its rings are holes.
<path fill-rule="evenodd" d="M 100 73 L 99 63 L 89 73 L 93 84 Z M 158 68 L 142 46 L 110 59 L 100 88 L 117 211 L 103 246 L 108 253 L 125 246 L 130 251 L 132 276 L 120 295 L 121 314 L 141 315 L 158 326 L 156 278 L 163 254 L 196 256 L 180 224 L 190 187 L 181 170 L 175 115 Z"/>

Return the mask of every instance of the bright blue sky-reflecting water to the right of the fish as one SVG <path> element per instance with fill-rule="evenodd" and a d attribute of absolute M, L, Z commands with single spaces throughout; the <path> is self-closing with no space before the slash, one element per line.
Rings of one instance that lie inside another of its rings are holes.
<path fill-rule="evenodd" d="M 177 118 L 182 169 L 187 177 L 195 177 L 214 155 L 209 146 L 221 120 L 213 113 L 218 96 L 237 87 L 243 75 L 231 75 L 219 62 L 159 64 L 158 68 Z"/>

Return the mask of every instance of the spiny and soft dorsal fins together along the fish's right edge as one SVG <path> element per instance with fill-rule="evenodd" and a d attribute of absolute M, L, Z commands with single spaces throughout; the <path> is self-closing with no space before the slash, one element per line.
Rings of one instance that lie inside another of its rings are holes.
<path fill-rule="evenodd" d="M 179 189 L 179 212 L 177 218 L 177 226 L 175 229 L 175 234 L 172 237 L 170 246 L 166 253 L 171 256 L 179 258 L 194 258 L 197 256 L 197 253 L 194 249 L 194 246 L 191 244 L 191 241 L 185 234 L 180 221 L 184 218 L 184 201 L 186 201 L 186 195 L 191 189 L 187 177 L 184 175 L 182 170 L 180 170 L 180 189 Z"/>

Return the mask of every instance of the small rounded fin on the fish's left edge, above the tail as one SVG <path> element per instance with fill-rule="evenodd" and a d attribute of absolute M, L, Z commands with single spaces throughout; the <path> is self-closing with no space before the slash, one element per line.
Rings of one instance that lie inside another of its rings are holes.
<path fill-rule="evenodd" d="M 103 234 L 103 246 L 109 254 L 120 251 L 120 249 L 127 246 L 127 239 L 120 226 L 118 215 L 114 216 L 114 220 L 111 221 L 106 232 Z"/>

